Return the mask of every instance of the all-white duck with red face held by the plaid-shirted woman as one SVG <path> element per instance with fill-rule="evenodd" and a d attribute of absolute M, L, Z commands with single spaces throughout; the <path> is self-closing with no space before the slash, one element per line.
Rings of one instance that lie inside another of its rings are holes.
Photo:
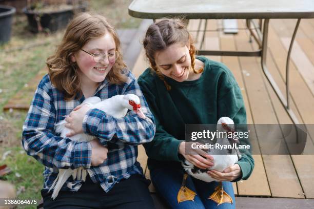
<path fill-rule="evenodd" d="M 82 104 L 88 104 L 90 109 L 99 109 L 104 111 L 106 114 L 111 115 L 115 118 L 124 117 L 128 110 L 133 110 L 138 116 L 142 119 L 145 119 L 145 115 L 141 110 L 140 98 L 134 94 L 127 95 L 115 95 L 111 98 L 101 101 L 99 97 L 89 97 L 83 101 Z M 55 124 L 55 132 L 60 133 L 61 137 L 66 137 L 66 134 L 70 132 L 68 128 L 65 127 L 67 122 L 62 120 Z M 94 139 L 94 136 L 82 133 L 76 134 L 69 137 L 72 141 L 83 142 L 91 141 Z M 66 180 L 72 175 L 73 179 L 77 180 L 86 180 L 87 170 L 83 167 L 77 169 L 59 169 L 58 176 L 54 180 L 49 191 L 53 189 L 51 198 L 55 199 L 60 192 L 63 184 Z"/>

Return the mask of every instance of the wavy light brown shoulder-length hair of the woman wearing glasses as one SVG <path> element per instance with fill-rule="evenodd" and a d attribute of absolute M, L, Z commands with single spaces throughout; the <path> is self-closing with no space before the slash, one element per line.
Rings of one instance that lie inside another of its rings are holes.
<path fill-rule="evenodd" d="M 56 89 L 64 93 L 65 100 L 73 99 L 76 94 L 83 95 L 78 66 L 76 62 L 71 61 L 71 55 L 79 51 L 91 39 L 102 37 L 106 33 L 112 35 L 116 51 L 122 54 L 119 37 L 104 16 L 78 14 L 69 23 L 54 55 L 47 58 L 50 81 Z M 125 72 L 127 72 L 126 65 L 121 55 L 106 77 L 109 83 L 120 84 L 127 80 Z"/>

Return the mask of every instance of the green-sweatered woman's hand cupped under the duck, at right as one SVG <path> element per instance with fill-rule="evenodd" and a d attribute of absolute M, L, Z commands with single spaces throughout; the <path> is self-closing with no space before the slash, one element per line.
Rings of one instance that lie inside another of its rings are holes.
<path fill-rule="evenodd" d="M 234 165 L 226 168 L 224 172 L 210 170 L 207 172 L 207 174 L 219 181 L 233 181 L 234 179 L 237 179 L 242 175 L 242 171 L 240 165 L 238 163 L 235 163 Z"/>

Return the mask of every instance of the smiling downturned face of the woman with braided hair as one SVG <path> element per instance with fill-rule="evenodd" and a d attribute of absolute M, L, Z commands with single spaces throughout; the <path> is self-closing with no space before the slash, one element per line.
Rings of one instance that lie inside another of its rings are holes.
<path fill-rule="evenodd" d="M 193 75 L 191 56 L 187 46 L 172 44 L 165 50 L 156 52 L 155 62 L 163 75 L 178 82 L 190 80 Z"/>

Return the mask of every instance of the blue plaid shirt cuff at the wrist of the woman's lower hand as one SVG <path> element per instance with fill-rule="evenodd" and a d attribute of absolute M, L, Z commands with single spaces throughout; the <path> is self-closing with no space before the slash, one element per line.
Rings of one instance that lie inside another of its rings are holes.
<path fill-rule="evenodd" d="M 78 142 L 74 145 L 74 167 L 89 169 L 91 165 L 91 144 Z"/>

